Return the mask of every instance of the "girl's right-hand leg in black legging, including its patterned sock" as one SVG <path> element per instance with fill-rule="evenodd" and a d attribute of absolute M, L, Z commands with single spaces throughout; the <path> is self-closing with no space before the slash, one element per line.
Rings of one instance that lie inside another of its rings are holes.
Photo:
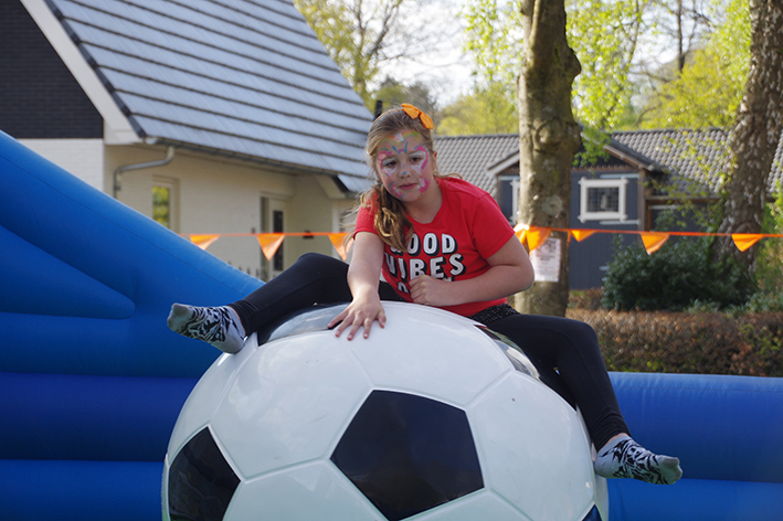
<path fill-rule="evenodd" d="M 599 475 L 657 483 L 673 483 L 680 478 L 677 458 L 657 456 L 627 435 L 593 328 L 576 320 L 535 315 L 514 315 L 488 327 L 510 338 L 531 359 L 558 369 L 599 447 Z"/>

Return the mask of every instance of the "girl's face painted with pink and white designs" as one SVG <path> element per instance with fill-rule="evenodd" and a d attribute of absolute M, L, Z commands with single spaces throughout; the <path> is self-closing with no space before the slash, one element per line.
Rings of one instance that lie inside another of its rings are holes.
<path fill-rule="evenodd" d="M 401 130 L 380 142 L 375 171 L 389 193 L 403 203 L 411 203 L 420 200 L 435 182 L 434 159 L 421 134 Z"/>

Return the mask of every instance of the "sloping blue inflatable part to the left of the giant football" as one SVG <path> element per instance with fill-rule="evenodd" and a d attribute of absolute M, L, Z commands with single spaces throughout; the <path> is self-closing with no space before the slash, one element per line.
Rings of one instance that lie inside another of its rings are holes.
<path fill-rule="evenodd" d="M 162 460 L 220 354 L 173 301 L 260 281 L 0 132 L 0 518 L 160 519 Z"/>

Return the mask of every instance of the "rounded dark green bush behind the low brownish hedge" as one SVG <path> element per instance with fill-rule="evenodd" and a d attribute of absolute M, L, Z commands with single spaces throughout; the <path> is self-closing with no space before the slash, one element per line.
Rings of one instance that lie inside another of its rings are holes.
<path fill-rule="evenodd" d="M 617 252 L 603 279 L 604 309 L 743 305 L 753 293 L 752 278 L 730 260 L 713 262 L 711 244 L 709 238 L 677 237 L 652 255 L 638 243 Z"/>

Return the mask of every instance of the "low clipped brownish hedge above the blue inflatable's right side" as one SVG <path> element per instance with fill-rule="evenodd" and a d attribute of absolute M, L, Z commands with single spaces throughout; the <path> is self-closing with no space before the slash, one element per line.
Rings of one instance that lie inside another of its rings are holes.
<path fill-rule="evenodd" d="M 588 306 L 592 307 L 592 306 Z M 569 308 L 595 329 L 610 371 L 783 376 L 783 313 Z"/>

